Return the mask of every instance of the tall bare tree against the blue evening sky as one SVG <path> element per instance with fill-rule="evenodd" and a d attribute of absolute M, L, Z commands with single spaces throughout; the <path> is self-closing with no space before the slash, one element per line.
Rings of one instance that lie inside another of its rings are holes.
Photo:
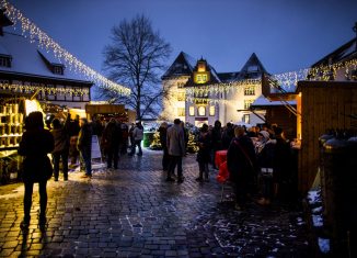
<path fill-rule="evenodd" d="M 103 70 L 108 78 L 131 89 L 128 97 L 100 89 L 101 97 L 112 103 L 123 103 L 136 110 L 137 119 L 156 114 L 161 104 L 160 75 L 171 54 L 171 46 L 153 32 L 151 22 L 138 15 L 124 20 L 112 29 L 112 43 L 104 47 Z"/>

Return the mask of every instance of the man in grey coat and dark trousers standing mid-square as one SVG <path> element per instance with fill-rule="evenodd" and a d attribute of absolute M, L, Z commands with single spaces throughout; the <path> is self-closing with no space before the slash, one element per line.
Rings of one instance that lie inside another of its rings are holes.
<path fill-rule="evenodd" d="M 174 124 L 168 128 L 166 146 L 170 155 L 169 170 L 166 181 L 175 181 L 172 176 L 174 175 L 175 168 L 177 166 L 177 182 L 182 183 L 184 181 L 182 172 L 182 157 L 185 156 L 185 135 L 181 127 L 180 119 L 174 120 Z"/>

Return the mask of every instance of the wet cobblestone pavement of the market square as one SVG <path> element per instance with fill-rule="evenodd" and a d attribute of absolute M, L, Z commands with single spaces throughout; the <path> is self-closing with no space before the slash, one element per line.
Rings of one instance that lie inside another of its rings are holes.
<path fill-rule="evenodd" d="M 220 203 L 217 171 L 196 182 L 193 155 L 182 184 L 165 182 L 160 168 L 161 152 L 146 150 L 92 179 L 72 172 L 49 181 L 45 229 L 35 186 L 27 233 L 20 229 L 23 186 L 0 187 L 0 257 L 309 257 L 300 211 Z"/>

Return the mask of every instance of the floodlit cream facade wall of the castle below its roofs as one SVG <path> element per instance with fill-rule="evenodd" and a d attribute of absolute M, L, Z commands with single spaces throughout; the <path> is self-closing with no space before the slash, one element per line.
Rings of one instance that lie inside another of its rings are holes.
<path fill-rule="evenodd" d="M 185 89 L 180 88 L 183 86 L 188 76 L 176 77 L 163 80 L 163 89 L 168 92 L 168 98 L 163 99 L 163 112 L 161 116 L 164 120 L 173 121 L 178 117 L 184 122 L 188 122 L 196 126 L 200 126 L 203 123 L 214 125 L 216 120 L 219 120 L 222 124 L 228 122 L 240 123 L 244 122 L 244 119 L 250 124 L 255 125 L 257 123 L 264 123 L 258 116 L 249 111 L 249 106 L 245 106 L 245 101 L 254 102 L 262 94 L 262 85 L 254 85 L 254 94 L 245 94 L 245 86 L 231 86 L 230 90 L 218 92 L 209 98 L 218 101 L 208 101 L 207 103 L 196 103 L 189 98 L 182 98 L 185 96 Z M 184 109 L 184 116 L 182 114 Z M 194 109 L 194 115 L 191 115 L 189 110 Z M 205 109 L 205 115 L 198 115 L 198 109 Z M 215 114 L 210 115 L 210 109 L 215 109 Z M 264 112 L 261 112 L 264 115 Z M 247 115 L 247 117 L 244 117 Z"/>

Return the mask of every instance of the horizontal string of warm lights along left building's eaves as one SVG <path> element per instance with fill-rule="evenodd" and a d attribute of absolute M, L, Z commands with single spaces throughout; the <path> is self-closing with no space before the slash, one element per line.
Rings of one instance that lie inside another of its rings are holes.
<path fill-rule="evenodd" d="M 28 86 L 28 85 L 9 85 L 0 83 L 1 90 L 12 91 L 12 92 L 23 92 L 23 93 L 33 93 L 36 90 L 39 90 L 42 93 L 46 94 L 71 94 L 71 96 L 88 96 L 88 88 L 54 88 L 46 86 Z"/>

